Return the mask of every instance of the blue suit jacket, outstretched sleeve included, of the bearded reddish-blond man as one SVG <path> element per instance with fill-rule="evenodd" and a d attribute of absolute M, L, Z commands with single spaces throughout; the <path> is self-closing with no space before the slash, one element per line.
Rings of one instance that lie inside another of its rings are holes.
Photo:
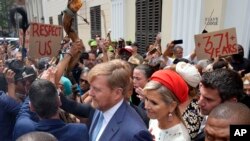
<path fill-rule="evenodd" d="M 89 131 L 93 130 L 98 110 L 88 104 L 68 100 L 63 95 L 61 101 L 65 111 L 89 118 L 91 121 Z M 99 141 L 152 141 L 152 136 L 141 117 L 124 101 L 109 121 Z"/>

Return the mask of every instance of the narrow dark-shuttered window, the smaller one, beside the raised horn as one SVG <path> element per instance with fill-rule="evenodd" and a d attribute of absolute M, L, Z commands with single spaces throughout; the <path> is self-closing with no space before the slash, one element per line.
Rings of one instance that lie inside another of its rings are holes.
<path fill-rule="evenodd" d="M 101 6 L 90 8 L 90 25 L 91 25 L 91 38 L 95 39 L 96 35 L 101 34 Z"/>

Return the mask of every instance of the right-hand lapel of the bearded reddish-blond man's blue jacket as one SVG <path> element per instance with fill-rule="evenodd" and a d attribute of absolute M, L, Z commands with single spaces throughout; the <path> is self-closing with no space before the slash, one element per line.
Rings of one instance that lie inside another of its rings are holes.
<path fill-rule="evenodd" d="M 124 120 L 127 106 L 128 104 L 123 102 L 122 105 L 117 109 L 114 116 L 111 118 L 107 127 L 102 133 L 99 141 L 110 141 L 112 137 L 119 131 L 120 124 Z"/>

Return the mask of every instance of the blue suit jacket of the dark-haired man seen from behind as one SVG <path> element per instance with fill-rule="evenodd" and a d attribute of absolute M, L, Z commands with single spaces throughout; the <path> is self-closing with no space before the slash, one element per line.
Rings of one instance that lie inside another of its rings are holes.
<path fill-rule="evenodd" d="M 88 141 L 88 130 L 84 124 L 65 124 L 60 119 L 38 120 L 34 113 L 29 111 L 29 99 L 23 103 L 17 118 L 13 139 L 32 131 L 49 132 L 59 141 Z"/>

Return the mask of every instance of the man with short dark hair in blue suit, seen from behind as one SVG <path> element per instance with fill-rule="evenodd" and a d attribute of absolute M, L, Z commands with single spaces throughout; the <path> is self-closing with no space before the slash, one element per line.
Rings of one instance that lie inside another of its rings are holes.
<path fill-rule="evenodd" d="M 84 124 L 66 124 L 59 118 L 61 105 L 55 85 L 48 80 L 36 80 L 23 103 L 14 129 L 14 140 L 32 131 L 49 132 L 59 141 L 88 141 Z M 35 118 L 35 112 L 39 119 Z"/>

